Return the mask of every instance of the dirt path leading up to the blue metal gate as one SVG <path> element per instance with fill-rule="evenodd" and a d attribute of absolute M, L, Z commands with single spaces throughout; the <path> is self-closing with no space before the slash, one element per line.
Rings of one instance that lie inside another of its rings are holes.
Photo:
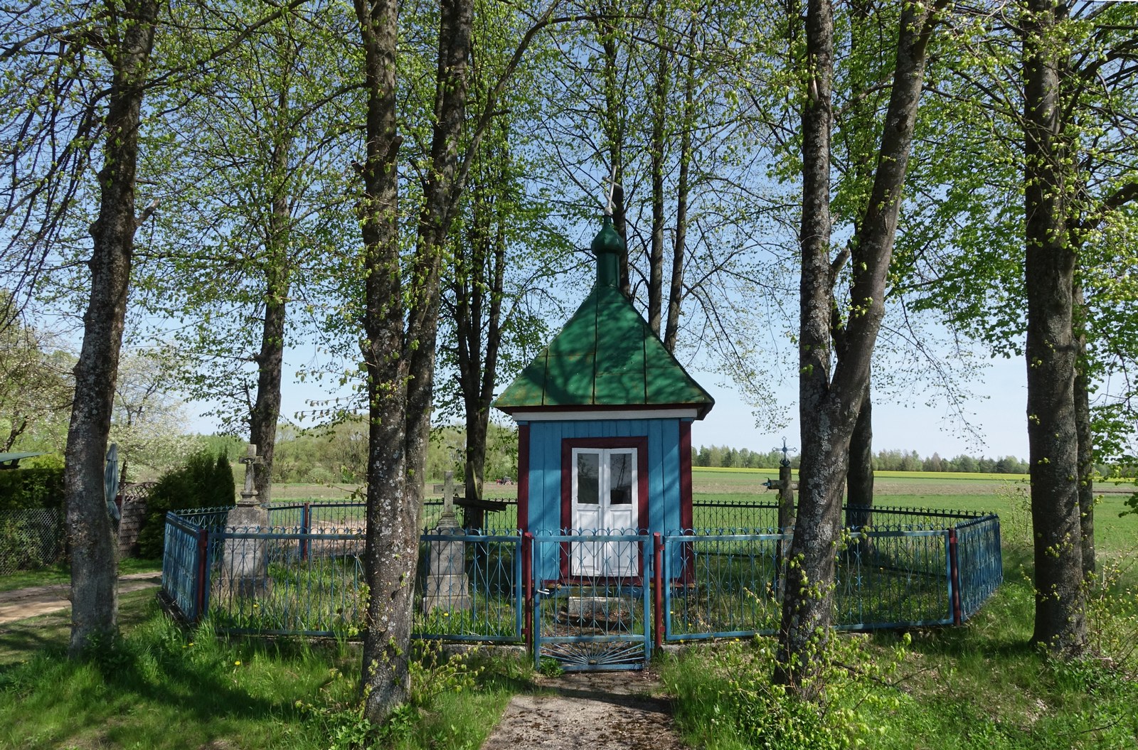
<path fill-rule="evenodd" d="M 668 702 L 643 671 L 538 677 L 541 695 L 514 695 L 481 750 L 683 750 Z"/>

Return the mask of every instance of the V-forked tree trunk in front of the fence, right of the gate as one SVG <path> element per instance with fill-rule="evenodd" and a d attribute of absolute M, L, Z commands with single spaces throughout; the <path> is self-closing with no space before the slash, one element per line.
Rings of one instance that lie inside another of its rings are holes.
<path fill-rule="evenodd" d="M 942 3 L 905 6 L 880 158 L 855 242 L 851 310 L 843 353 L 830 378 L 831 314 L 836 269 L 830 261 L 830 130 L 833 11 L 809 0 L 806 17 L 808 97 L 802 112 L 802 248 L 799 329 L 799 425 L 802 458 L 799 509 L 791 542 L 775 679 L 817 698 L 818 657 L 826 648 L 833 602 L 834 558 L 841 521 L 849 440 L 869 382 L 869 362 L 884 315 L 901 188 L 908 167 L 929 40 Z"/>

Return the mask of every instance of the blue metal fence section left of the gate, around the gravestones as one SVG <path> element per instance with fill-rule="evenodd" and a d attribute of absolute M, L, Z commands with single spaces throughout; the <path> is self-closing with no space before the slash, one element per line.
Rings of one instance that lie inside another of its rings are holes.
<path fill-rule="evenodd" d="M 362 526 L 232 528 L 224 526 L 228 510 L 166 516 L 163 591 L 185 620 L 197 623 L 208 616 L 220 633 L 353 636 L 362 632 L 366 613 Z M 292 510 L 297 509 L 284 509 Z M 423 535 L 415 576 L 415 637 L 520 642 L 520 535 Z M 461 570 L 440 569 L 440 557 L 436 553 L 432 560 L 432 545 L 455 544 L 463 547 L 461 557 L 447 558 L 447 563 Z M 461 584 L 446 592 L 437 585 L 429 588 L 432 580 L 448 576 Z"/>

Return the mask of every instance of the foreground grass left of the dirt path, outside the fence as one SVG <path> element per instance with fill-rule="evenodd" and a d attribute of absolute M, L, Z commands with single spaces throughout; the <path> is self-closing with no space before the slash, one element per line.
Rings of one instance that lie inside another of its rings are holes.
<path fill-rule="evenodd" d="M 152 592 L 138 592 L 121 602 L 123 638 L 71 661 L 67 619 L 0 631 L 0 748 L 347 750 L 362 726 L 357 645 L 182 631 Z M 415 703 L 373 747 L 477 748 L 531 676 L 528 660 L 506 656 L 476 656 L 455 671 L 427 654 Z"/>

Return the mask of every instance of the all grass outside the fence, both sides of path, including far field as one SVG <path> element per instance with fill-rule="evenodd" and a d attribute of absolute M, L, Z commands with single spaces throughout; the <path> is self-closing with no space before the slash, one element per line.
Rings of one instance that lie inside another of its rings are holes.
<path fill-rule="evenodd" d="M 695 489 L 709 497 L 753 497 L 764 492 L 765 478 L 753 471 L 698 471 Z M 851 687 L 835 684 L 827 716 L 855 730 L 865 725 L 873 731 L 858 735 L 864 747 L 890 750 L 1136 747 L 1138 567 L 1132 561 L 1138 552 L 1138 517 L 1118 517 L 1121 497 L 1106 495 L 1097 511 L 1103 567 L 1121 566 L 1121 571 L 1104 575 L 1106 585 L 1092 590 L 1094 658 L 1063 664 L 1026 645 L 1032 593 L 1023 485 L 879 475 L 877 488 L 882 504 L 998 511 L 1007 583 L 964 627 L 914 631 L 896 671 L 874 673 Z M 774 493 L 767 496 L 773 498 Z M 67 579 L 61 569 L 36 575 L 22 580 Z M 336 747 L 360 727 L 352 710 L 360 674 L 355 646 L 225 640 L 213 637 L 208 628 L 183 632 L 156 611 L 150 592 L 124 595 L 119 620 L 122 643 L 86 662 L 64 657 L 66 613 L 0 626 L 0 748 L 304 750 Z M 853 670 L 891 664 L 899 646 L 894 634 L 841 641 L 856 646 L 847 650 L 843 667 Z M 761 669 L 768 662 L 753 656 L 758 650 L 750 643 L 734 648 L 749 659 L 739 664 L 749 665 L 757 676 L 743 686 L 764 684 L 767 675 Z M 717 671 L 717 666 L 729 662 L 717 661 L 710 656 L 714 651 L 695 649 L 661 662 L 676 699 L 677 722 L 693 747 L 756 747 L 758 742 L 747 734 L 753 722 L 741 725 L 733 714 L 745 702 L 724 690 L 748 673 Z M 437 666 L 419 669 L 418 702 L 374 747 L 479 747 L 510 695 L 535 690 L 527 661 L 480 657 L 470 671 L 483 671 L 469 677 L 472 686 L 461 692 L 453 689 L 462 678 Z M 842 714 L 843 706 L 852 714 Z M 801 711 L 776 714 L 800 730 L 816 724 Z M 826 717 L 820 720 L 823 728 L 831 726 Z M 848 736 L 842 728 L 823 739 Z M 834 745 L 819 741 L 815 747 Z"/>

